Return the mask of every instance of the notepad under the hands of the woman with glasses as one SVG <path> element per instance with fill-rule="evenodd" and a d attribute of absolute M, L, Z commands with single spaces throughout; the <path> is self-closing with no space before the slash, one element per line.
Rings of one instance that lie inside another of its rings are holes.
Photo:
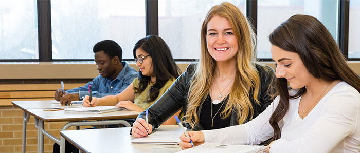
<path fill-rule="evenodd" d="M 76 108 L 65 108 L 66 113 L 105 113 L 123 110 L 123 107 L 116 106 L 95 106 L 95 107 L 76 107 Z"/>

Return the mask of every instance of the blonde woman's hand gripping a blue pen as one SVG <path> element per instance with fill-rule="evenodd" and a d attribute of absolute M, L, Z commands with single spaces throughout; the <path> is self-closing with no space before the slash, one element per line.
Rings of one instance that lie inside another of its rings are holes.
<path fill-rule="evenodd" d="M 153 131 L 153 126 L 151 124 L 149 124 L 148 126 L 148 124 L 144 119 L 137 118 L 131 129 L 132 129 L 131 135 L 133 135 L 136 138 L 142 138 L 148 136 L 148 134 L 151 133 L 151 131 Z M 146 132 L 146 129 L 148 129 L 148 132 Z"/>

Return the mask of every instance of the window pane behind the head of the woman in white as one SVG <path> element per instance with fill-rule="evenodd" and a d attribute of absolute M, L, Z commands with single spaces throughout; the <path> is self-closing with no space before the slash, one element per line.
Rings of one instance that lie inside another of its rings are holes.
<path fill-rule="evenodd" d="M 269 34 L 295 14 L 316 17 L 337 41 L 337 0 L 258 0 L 258 58 L 271 58 Z"/>

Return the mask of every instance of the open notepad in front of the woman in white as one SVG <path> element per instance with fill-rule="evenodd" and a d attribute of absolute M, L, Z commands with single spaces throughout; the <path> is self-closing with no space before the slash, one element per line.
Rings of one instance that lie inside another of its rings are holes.
<path fill-rule="evenodd" d="M 265 146 L 255 145 L 230 145 L 219 143 L 204 143 L 199 146 L 189 148 L 186 150 L 178 151 L 179 153 L 186 152 L 206 152 L 206 153 L 219 153 L 219 152 L 238 152 L 238 153 L 262 153 Z"/>

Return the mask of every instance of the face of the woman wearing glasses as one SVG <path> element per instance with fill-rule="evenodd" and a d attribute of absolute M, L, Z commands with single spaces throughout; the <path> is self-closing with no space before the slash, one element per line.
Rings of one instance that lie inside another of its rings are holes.
<path fill-rule="evenodd" d="M 149 55 L 146 51 L 143 51 L 141 48 L 136 49 L 135 51 L 136 58 L 139 57 L 145 57 Z M 139 67 L 139 71 L 142 73 L 142 75 L 145 76 L 151 76 L 154 74 L 154 68 L 152 64 L 153 60 L 151 56 L 147 56 L 145 59 L 143 59 L 143 62 L 140 63 L 139 60 L 136 62 L 136 66 Z"/>

